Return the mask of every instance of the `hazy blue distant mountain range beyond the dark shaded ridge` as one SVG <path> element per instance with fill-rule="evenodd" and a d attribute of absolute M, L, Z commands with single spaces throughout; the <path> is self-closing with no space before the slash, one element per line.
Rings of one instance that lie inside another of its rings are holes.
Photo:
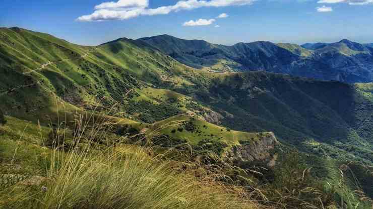
<path fill-rule="evenodd" d="M 224 46 L 161 35 L 139 41 L 185 65 L 211 72 L 266 70 L 348 83 L 373 81 L 372 49 L 348 40 L 302 46 L 262 41 Z"/>

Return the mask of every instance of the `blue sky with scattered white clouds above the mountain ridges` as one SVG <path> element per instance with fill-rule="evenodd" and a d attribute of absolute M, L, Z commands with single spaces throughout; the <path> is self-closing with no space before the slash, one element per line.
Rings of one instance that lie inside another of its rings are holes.
<path fill-rule="evenodd" d="M 81 45 L 168 34 L 215 44 L 373 43 L 373 0 L 2 0 L 0 27 Z"/>

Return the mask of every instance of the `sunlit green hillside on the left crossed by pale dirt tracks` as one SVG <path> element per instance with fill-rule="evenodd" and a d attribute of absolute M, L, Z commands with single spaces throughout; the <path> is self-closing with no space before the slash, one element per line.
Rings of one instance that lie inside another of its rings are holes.
<path fill-rule="evenodd" d="M 115 106 L 115 112 L 123 112 L 128 102 L 135 108 L 141 105 L 129 100 L 140 96 L 144 87 L 195 85 L 185 75 L 187 69 L 192 76 L 192 69 L 154 50 L 139 48 L 131 40 L 83 47 L 25 29 L 1 29 L 1 33 L 0 92 L 4 99 L 0 105 L 13 116 L 53 115 L 55 100 L 66 101 L 66 111 Z M 179 114 L 188 107 L 175 109 Z"/>

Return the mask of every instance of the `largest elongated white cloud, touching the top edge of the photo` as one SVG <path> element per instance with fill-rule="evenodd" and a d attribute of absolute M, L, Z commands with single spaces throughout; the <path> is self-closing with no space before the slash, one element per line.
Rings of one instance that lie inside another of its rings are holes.
<path fill-rule="evenodd" d="M 202 7 L 228 7 L 251 5 L 257 0 L 186 0 L 175 5 L 149 8 L 149 0 L 119 0 L 105 2 L 95 7 L 90 15 L 77 18 L 78 21 L 127 20 L 139 16 L 167 15 L 181 10 L 193 10 Z M 370 0 L 369 0 L 370 1 Z"/>

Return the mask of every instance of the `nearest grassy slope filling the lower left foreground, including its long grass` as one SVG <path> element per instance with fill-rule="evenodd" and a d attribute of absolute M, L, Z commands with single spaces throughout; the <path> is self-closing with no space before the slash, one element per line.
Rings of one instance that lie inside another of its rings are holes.
<path fill-rule="evenodd" d="M 88 131 L 78 125 L 81 130 L 72 138 L 61 130 L 65 146 L 72 143 L 64 151 L 48 145 L 53 139 L 50 128 L 7 120 L 0 126 L 1 208 L 258 207 L 239 195 L 239 187 L 197 178 L 176 169 L 181 162 L 149 155 L 150 149 L 128 144 L 98 147 L 88 138 L 105 132 L 101 126 Z"/>

